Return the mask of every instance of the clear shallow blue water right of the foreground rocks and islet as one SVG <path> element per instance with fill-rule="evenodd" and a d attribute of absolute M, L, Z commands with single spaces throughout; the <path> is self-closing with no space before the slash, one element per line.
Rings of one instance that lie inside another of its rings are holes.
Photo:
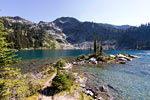
<path fill-rule="evenodd" d="M 133 59 L 125 65 L 80 66 L 77 69 L 90 75 L 90 80 L 95 86 L 111 84 L 117 89 L 112 90 L 113 94 L 125 100 L 150 100 L 150 51 L 126 51 L 126 53 L 141 58 Z"/>

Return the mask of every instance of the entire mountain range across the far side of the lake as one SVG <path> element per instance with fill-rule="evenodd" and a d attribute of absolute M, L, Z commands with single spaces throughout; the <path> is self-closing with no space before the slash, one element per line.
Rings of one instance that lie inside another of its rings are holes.
<path fill-rule="evenodd" d="M 87 49 L 94 37 L 103 40 L 104 49 L 149 49 L 150 25 L 133 27 L 81 22 L 72 17 L 61 17 L 38 24 L 20 17 L 1 17 L 9 42 L 14 48 Z M 144 35 L 143 35 L 144 34 Z M 143 37 L 144 36 L 144 37 Z"/>

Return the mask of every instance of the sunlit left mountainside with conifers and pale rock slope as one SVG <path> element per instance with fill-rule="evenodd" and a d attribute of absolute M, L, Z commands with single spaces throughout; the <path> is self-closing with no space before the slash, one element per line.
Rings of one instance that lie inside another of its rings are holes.
<path fill-rule="evenodd" d="M 73 49 L 66 41 L 66 35 L 56 27 L 46 30 L 42 25 L 30 22 L 21 17 L 1 17 L 8 34 L 8 42 L 14 43 L 16 49 L 50 48 Z M 53 29 L 54 28 L 54 29 Z"/>

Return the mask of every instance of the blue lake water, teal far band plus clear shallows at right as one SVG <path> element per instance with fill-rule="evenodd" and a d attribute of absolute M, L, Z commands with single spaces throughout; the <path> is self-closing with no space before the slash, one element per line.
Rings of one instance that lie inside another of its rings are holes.
<path fill-rule="evenodd" d="M 91 76 L 96 86 L 111 84 L 118 91 L 114 95 L 126 100 L 150 100 L 150 51 L 105 51 L 107 54 L 129 53 L 140 56 L 139 59 L 127 64 L 101 66 L 80 66 L 77 69 Z M 89 54 L 89 50 L 24 50 L 19 51 L 23 60 L 54 59 L 60 57 L 74 57 Z"/>

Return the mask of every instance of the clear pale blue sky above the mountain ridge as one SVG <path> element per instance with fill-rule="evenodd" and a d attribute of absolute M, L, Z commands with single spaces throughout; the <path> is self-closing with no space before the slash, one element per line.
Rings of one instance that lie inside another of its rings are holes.
<path fill-rule="evenodd" d="M 75 17 L 115 25 L 150 22 L 150 0 L 1 0 L 0 16 L 21 16 L 33 22 Z"/>

